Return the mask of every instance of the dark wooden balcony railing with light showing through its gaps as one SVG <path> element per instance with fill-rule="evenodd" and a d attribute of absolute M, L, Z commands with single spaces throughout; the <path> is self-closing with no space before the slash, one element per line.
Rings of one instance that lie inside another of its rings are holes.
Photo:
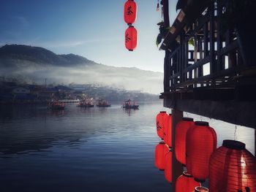
<path fill-rule="evenodd" d="M 236 28 L 225 20 L 229 6 L 230 1 L 209 1 L 196 18 L 181 10 L 161 46 L 166 51 L 165 92 L 233 87 L 248 69 Z"/>

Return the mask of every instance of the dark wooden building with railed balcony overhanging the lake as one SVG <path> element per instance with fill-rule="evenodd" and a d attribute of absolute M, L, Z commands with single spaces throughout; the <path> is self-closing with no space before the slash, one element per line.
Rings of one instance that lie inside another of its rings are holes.
<path fill-rule="evenodd" d="M 168 1 L 163 0 L 165 27 Z M 165 50 L 164 106 L 173 127 L 191 112 L 256 128 L 255 2 L 180 0 Z M 173 146 L 175 130 L 173 128 Z M 175 150 L 175 147 L 174 147 Z M 173 180 L 182 172 L 173 155 Z"/>

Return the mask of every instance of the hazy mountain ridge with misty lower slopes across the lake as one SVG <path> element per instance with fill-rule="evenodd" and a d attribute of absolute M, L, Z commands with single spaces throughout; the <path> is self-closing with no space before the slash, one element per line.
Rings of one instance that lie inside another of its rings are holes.
<path fill-rule="evenodd" d="M 80 55 L 57 55 L 42 47 L 0 47 L 0 76 L 23 82 L 91 83 L 147 93 L 162 92 L 161 72 L 97 64 Z"/>

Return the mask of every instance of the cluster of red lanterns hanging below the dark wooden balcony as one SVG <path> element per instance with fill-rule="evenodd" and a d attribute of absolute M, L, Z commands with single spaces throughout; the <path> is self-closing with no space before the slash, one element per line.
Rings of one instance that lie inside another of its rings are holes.
<path fill-rule="evenodd" d="M 167 134 L 168 139 L 165 139 Z M 157 135 L 171 144 L 171 115 L 166 112 L 157 115 Z M 162 160 L 161 169 L 169 172 L 170 175 L 165 175 L 165 178 L 171 183 L 172 152 L 167 151 L 171 145 L 165 142 L 159 145 L 162 146 L 162 155 L 158 156 L 167 159 L 165 156 L 169 153 L 170 159 L 167 162 Z M 255 156 L 245 149 L 243 143 L 232 140 L 224 140 L 222 147 L 217 149 L 217 134 L 207 122 L 183 118 L 176 126 L 175 146 L 176 159 L 187 166 L 186 174 L 192 175 L 192 180 L 195 177 L 197 183 L 209 177 L 210 191 L 256 191 Z"/>

